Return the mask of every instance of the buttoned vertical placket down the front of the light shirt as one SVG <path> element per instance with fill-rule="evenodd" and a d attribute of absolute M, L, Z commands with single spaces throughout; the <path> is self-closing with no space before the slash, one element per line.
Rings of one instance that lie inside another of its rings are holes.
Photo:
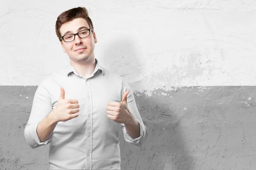
<path fill-rule="evenodd" d="M 91 96 L 91 85 L 90 78 L 86 79 L 86 92 L 87 92 L 87 169 L 92 169 L 92 132 L 93 132 L 93 105 L 92 105 L 92 96 Z"/>

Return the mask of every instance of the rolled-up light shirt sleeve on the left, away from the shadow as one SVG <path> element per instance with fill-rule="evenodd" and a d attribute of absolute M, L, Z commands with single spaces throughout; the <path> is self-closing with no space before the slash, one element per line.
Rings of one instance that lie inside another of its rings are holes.
<path fill-rule="evenodd" d="M 36 132 L 37 126 L 52 111 L 52 102 L 50 94 L 46 88 L 46 81 L 42 82 L 35 91 L 32 109 L 28 123 L 24 130 L 24 136 L 29 146 L 32 148 L 46 145 L 52 141 L 52 136 L 44 142 L 41 142 Z"/>

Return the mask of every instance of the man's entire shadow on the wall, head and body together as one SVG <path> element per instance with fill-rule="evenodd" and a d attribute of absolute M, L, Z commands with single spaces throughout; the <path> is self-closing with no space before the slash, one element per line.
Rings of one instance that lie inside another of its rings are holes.
<path fill-rule="evenodd" d="M 136 50 L 138 47 L 133 40 L 120 37 L 106 43 L 102 61 L 108 69 L 124 76 L 127 82 L 138 82 L 143 79 L 140 51 Z M 129 85 L 132 87 L 131 83 Z M 194 167 L 194 159 L 189 154 L 180 127 L 180 119 L 186 111 L 177 109 L 174 99 L 161 92 L 155 90 L 152 96 L 148 96 L 145 91 L 134 91 L 138 110 L 148 128 L 148 139 L 142 147 L 128 144 L 119 127 L 121 169 L 191 170 Z"/>

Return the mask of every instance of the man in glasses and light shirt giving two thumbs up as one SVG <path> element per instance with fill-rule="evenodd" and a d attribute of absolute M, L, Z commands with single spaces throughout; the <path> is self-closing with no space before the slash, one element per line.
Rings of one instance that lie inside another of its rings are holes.
<path fill-rule="evenodd" d="M 141 146 L 147 138 L 133 92 L 95 59 L 97 39 L 86 8 L 64 11 L 55 29 L 70 67 L 38 86 L 26 141 L 32 148 L 50 143 L 50 169 L 120 169 L 117 125 L 128 143 Z"/>

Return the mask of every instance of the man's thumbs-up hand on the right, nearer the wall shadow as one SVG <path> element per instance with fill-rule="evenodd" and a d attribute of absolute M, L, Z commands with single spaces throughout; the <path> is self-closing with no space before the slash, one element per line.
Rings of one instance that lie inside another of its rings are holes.
<path fill-rule="evenodd" d="M 122 96 L 121 102 L 108 102 L 107 116 L 109 119 L 117 123 L 127 124 L 133 119 L 127 106 L 127 95 L 129 91 L 126 91 Z"/>

